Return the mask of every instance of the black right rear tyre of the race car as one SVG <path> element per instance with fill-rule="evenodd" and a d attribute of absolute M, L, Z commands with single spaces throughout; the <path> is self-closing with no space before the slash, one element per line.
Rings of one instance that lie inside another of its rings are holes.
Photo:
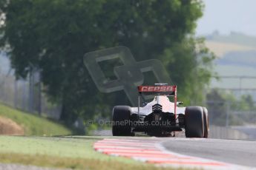
<path fill-rule="evenodd" d="M 204 137 L 203 107 L 186 107 L 185 134 L 186 137 Z"/>

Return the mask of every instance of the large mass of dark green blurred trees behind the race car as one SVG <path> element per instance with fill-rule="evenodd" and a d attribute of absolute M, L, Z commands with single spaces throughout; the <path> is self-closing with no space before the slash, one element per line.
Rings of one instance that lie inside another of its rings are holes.
<path fill-rule="evenodd" d="M 128 47 L 137 61 L 163 61 L 178 86 L 179 101 L 204 101 L 213 53 L 194 38 L 203 16 L 200 0 L 1 0 L 1 47 L 16 78 L 41 72 L 50 101 L 62 105 L 61 120 L 109 118 L 114 105 L 129 105 L 125 93 L 102 94 L 83 64 L 86 52 Z M 102 64 L 114 78 L 119 61 Z M 145 74 L 145 82 L 153 80 Z"/>

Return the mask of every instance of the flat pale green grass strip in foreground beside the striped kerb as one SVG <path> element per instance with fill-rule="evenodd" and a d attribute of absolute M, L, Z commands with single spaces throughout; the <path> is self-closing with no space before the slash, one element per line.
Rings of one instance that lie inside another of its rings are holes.
<path fill-rule="evenodd" d="M 70 169 L 165 169 L 93 150 L 100 137 L 0 137 L 0 162 Z"/>

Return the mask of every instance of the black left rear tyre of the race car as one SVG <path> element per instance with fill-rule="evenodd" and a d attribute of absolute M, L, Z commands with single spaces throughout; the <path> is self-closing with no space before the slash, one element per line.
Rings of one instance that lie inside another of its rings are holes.
<path fill-rule="evenodd" d="M 131 107 L 130 106 L 115 106 L 113 109 L 113 136 L 134 136 L 131 132 L 130 125 Z"/>

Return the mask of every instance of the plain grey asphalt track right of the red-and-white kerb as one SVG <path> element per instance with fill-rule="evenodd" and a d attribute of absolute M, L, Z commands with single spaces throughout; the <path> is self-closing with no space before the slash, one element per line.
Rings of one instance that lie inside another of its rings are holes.
<path fill-rule="evenodd" d="M 256 140 L 171 138 L 162 145 L 179 154 L 256 167 Z"/>

